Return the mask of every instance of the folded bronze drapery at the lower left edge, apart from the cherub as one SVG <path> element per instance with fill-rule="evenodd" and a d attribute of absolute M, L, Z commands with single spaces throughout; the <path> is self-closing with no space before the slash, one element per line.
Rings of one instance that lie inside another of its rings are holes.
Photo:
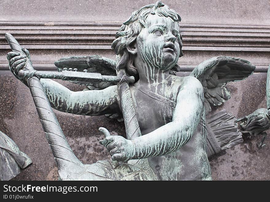
<path fill-rule="evenodd" d="M 32 163 L 31 159 L 0 131 L 0 180 L 10 180 Z"/>

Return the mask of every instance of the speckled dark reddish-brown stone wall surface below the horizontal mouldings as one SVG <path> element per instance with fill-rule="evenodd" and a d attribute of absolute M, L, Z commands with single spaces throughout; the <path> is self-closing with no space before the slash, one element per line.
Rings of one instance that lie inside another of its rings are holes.
<path fill-rule="evenodd" d="M 8 71 L 0 73 L 0 128 L 33 161 L 14 180 L 57 180 L 56 164 L 29 89 Z M 83 86 L 70 82 L 60 83 L 74 91 L 83 90 Z M 265 85 L 266 73 L 255 73 L 245 81 L 229 84 L 232 98 L 215 111 L 226 109 L 238 118 L 265 107 Z M 98 127 L 108 128 L 111 134 L 125 134 L 123 122 L 106 116 L 80 116 L 56 110 L 55 113 L 71 148 L 84 164 L 110 158 L 106 149 L 98 143 L 103 138 Z M 256 143 L 260 138 L 246 137 L 244 143 L 211 158 L 213 179 L 270 180 L 270 141 L 267 138 L 266 147 L 258 150 Z"/>

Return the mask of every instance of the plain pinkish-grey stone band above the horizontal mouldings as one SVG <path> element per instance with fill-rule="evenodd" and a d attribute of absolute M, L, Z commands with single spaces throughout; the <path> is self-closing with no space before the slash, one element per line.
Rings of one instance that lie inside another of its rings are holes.
<path fill-rule="evenodd" d="M 2 0 L 1 21 L 88 21 L 123 22 L 130 14 L 156 0 Z M 166 0 L 183 23 L 270 25 L 268 0 Z M 28 12 L 29 11 L 29 12 Z M 18 19 L 18 16 L 21 18 Z"/>

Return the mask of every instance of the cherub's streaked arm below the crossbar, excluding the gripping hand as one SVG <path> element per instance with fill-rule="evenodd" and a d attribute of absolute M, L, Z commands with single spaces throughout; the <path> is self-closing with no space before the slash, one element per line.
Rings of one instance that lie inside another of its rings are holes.
<path fill-rule="evenodd" d="M 89 116 L 118 112 L 117 86 L 74 92 L 51 79 L 40 81 L 51 106 L 59 111 Z"/>

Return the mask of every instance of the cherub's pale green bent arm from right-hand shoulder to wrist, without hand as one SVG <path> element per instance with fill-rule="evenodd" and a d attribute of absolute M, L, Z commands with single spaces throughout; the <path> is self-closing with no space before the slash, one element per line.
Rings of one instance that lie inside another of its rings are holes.
<path fill-rule="evenodd" d="M 183 147 L 192 137 L 203 113 L 203 87 L 196 78 L 188 78 L 180 89 L 172 122 L 133 139 L 133 159 L 171 153 Z M 196 79 L 196 80 L 194 80 Z"/>

